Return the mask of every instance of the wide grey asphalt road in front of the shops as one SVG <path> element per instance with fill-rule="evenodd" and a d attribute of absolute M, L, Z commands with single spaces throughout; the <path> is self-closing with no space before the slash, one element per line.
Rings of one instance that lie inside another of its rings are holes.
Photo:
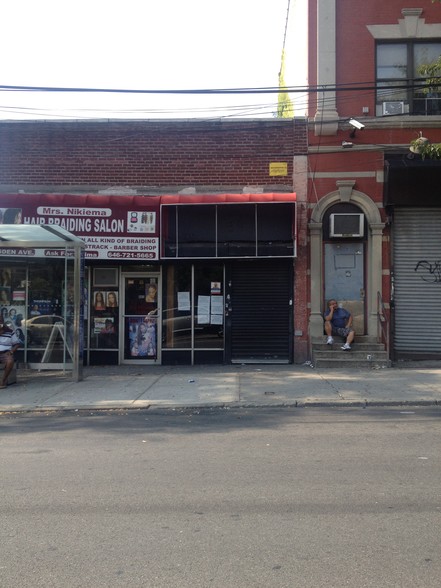
<path fill-rule="evenodd" d="M 439 587 L 441 409 L 0 417 L 5 588 Z"/>

